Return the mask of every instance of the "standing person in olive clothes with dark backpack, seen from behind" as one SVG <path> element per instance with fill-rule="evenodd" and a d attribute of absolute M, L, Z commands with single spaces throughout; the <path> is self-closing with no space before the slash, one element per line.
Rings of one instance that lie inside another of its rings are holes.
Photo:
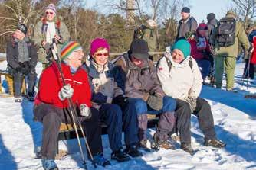
<path fill-rule="evenodd" d="M 240 21 L 236 21 L 236 14 L 228 11 L 225 18 L 219 21 L 215 32 L 215 85 L 222 88 L 222 76 L 225 70 L 227 79 L 226 90 L 233 91 L 236 57 L 238 56 L 238 42 L 245 50 L 249 50 L 250 43 L 245 29 Z M 228 31 L 227 31 L 228 30 Z"/>

